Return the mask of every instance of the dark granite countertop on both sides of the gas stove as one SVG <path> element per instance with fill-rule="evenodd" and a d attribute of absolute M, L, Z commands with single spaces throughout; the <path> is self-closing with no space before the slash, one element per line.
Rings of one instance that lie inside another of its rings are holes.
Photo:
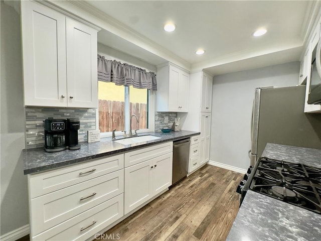
<path fill-rule="evenodd" d="M 268 143 L 262 156 L 321 167 L 321 150 Z M 321 240 L 321 215 L 248 190 L 226 240 Z"/>

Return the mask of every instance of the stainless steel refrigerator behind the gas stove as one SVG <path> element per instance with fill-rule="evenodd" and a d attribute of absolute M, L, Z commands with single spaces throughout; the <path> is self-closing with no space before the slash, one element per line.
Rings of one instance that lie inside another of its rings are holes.
<path fill-rule="evenodd" d="M 304 113 L 305 85 L 255 89 L 251 166 L 266 143 L 321 149 L 321 113 Z"/>

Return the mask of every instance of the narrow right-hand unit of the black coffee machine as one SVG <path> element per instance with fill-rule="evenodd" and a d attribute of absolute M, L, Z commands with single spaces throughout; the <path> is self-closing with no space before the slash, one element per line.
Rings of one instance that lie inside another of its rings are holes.
<path fill-rule="evenodd" d="M 69 150 L 78 150 L 78 130 L 80 128 L 80 121 L 77 118 L 67 119 L 66 145 Z"/>

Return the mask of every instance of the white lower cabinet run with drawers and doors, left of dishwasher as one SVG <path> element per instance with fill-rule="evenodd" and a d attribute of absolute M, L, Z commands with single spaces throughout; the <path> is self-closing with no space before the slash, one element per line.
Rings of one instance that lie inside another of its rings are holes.
<path fill-rule="evenodd" d="M 172 172 L 173 142 L 167 142 L 29 174 L 30 239 L 94 239 L 167 190 Z"/>

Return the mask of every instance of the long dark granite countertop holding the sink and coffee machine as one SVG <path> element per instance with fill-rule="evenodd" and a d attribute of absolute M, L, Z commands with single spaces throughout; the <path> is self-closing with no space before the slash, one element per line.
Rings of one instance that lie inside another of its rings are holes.
<path fill-rule="evenodd" d="M 111 156 L 138 148 L 143 148 L 164 142 L 171 142 L 200 135 L 199 132 L 179 131 L 179 132 L 148 132 L 138 134 L 138 136 L 152 135 L 161 137 L 148 142 L 141 142 L 131 145 L 122 145 L 111 140 L 111 138 L 102 138 L 100 142 L 79 143 L 79 150 L 64 150 L 61 152 L 45 152 L 44 148 L 33 148 L 23 150 L 24 174 L 32 174 L 63 167 L 70 164 L 80 163 L 91 159 Z M 122 139 L 122 137 L 117 137 Z"/>

